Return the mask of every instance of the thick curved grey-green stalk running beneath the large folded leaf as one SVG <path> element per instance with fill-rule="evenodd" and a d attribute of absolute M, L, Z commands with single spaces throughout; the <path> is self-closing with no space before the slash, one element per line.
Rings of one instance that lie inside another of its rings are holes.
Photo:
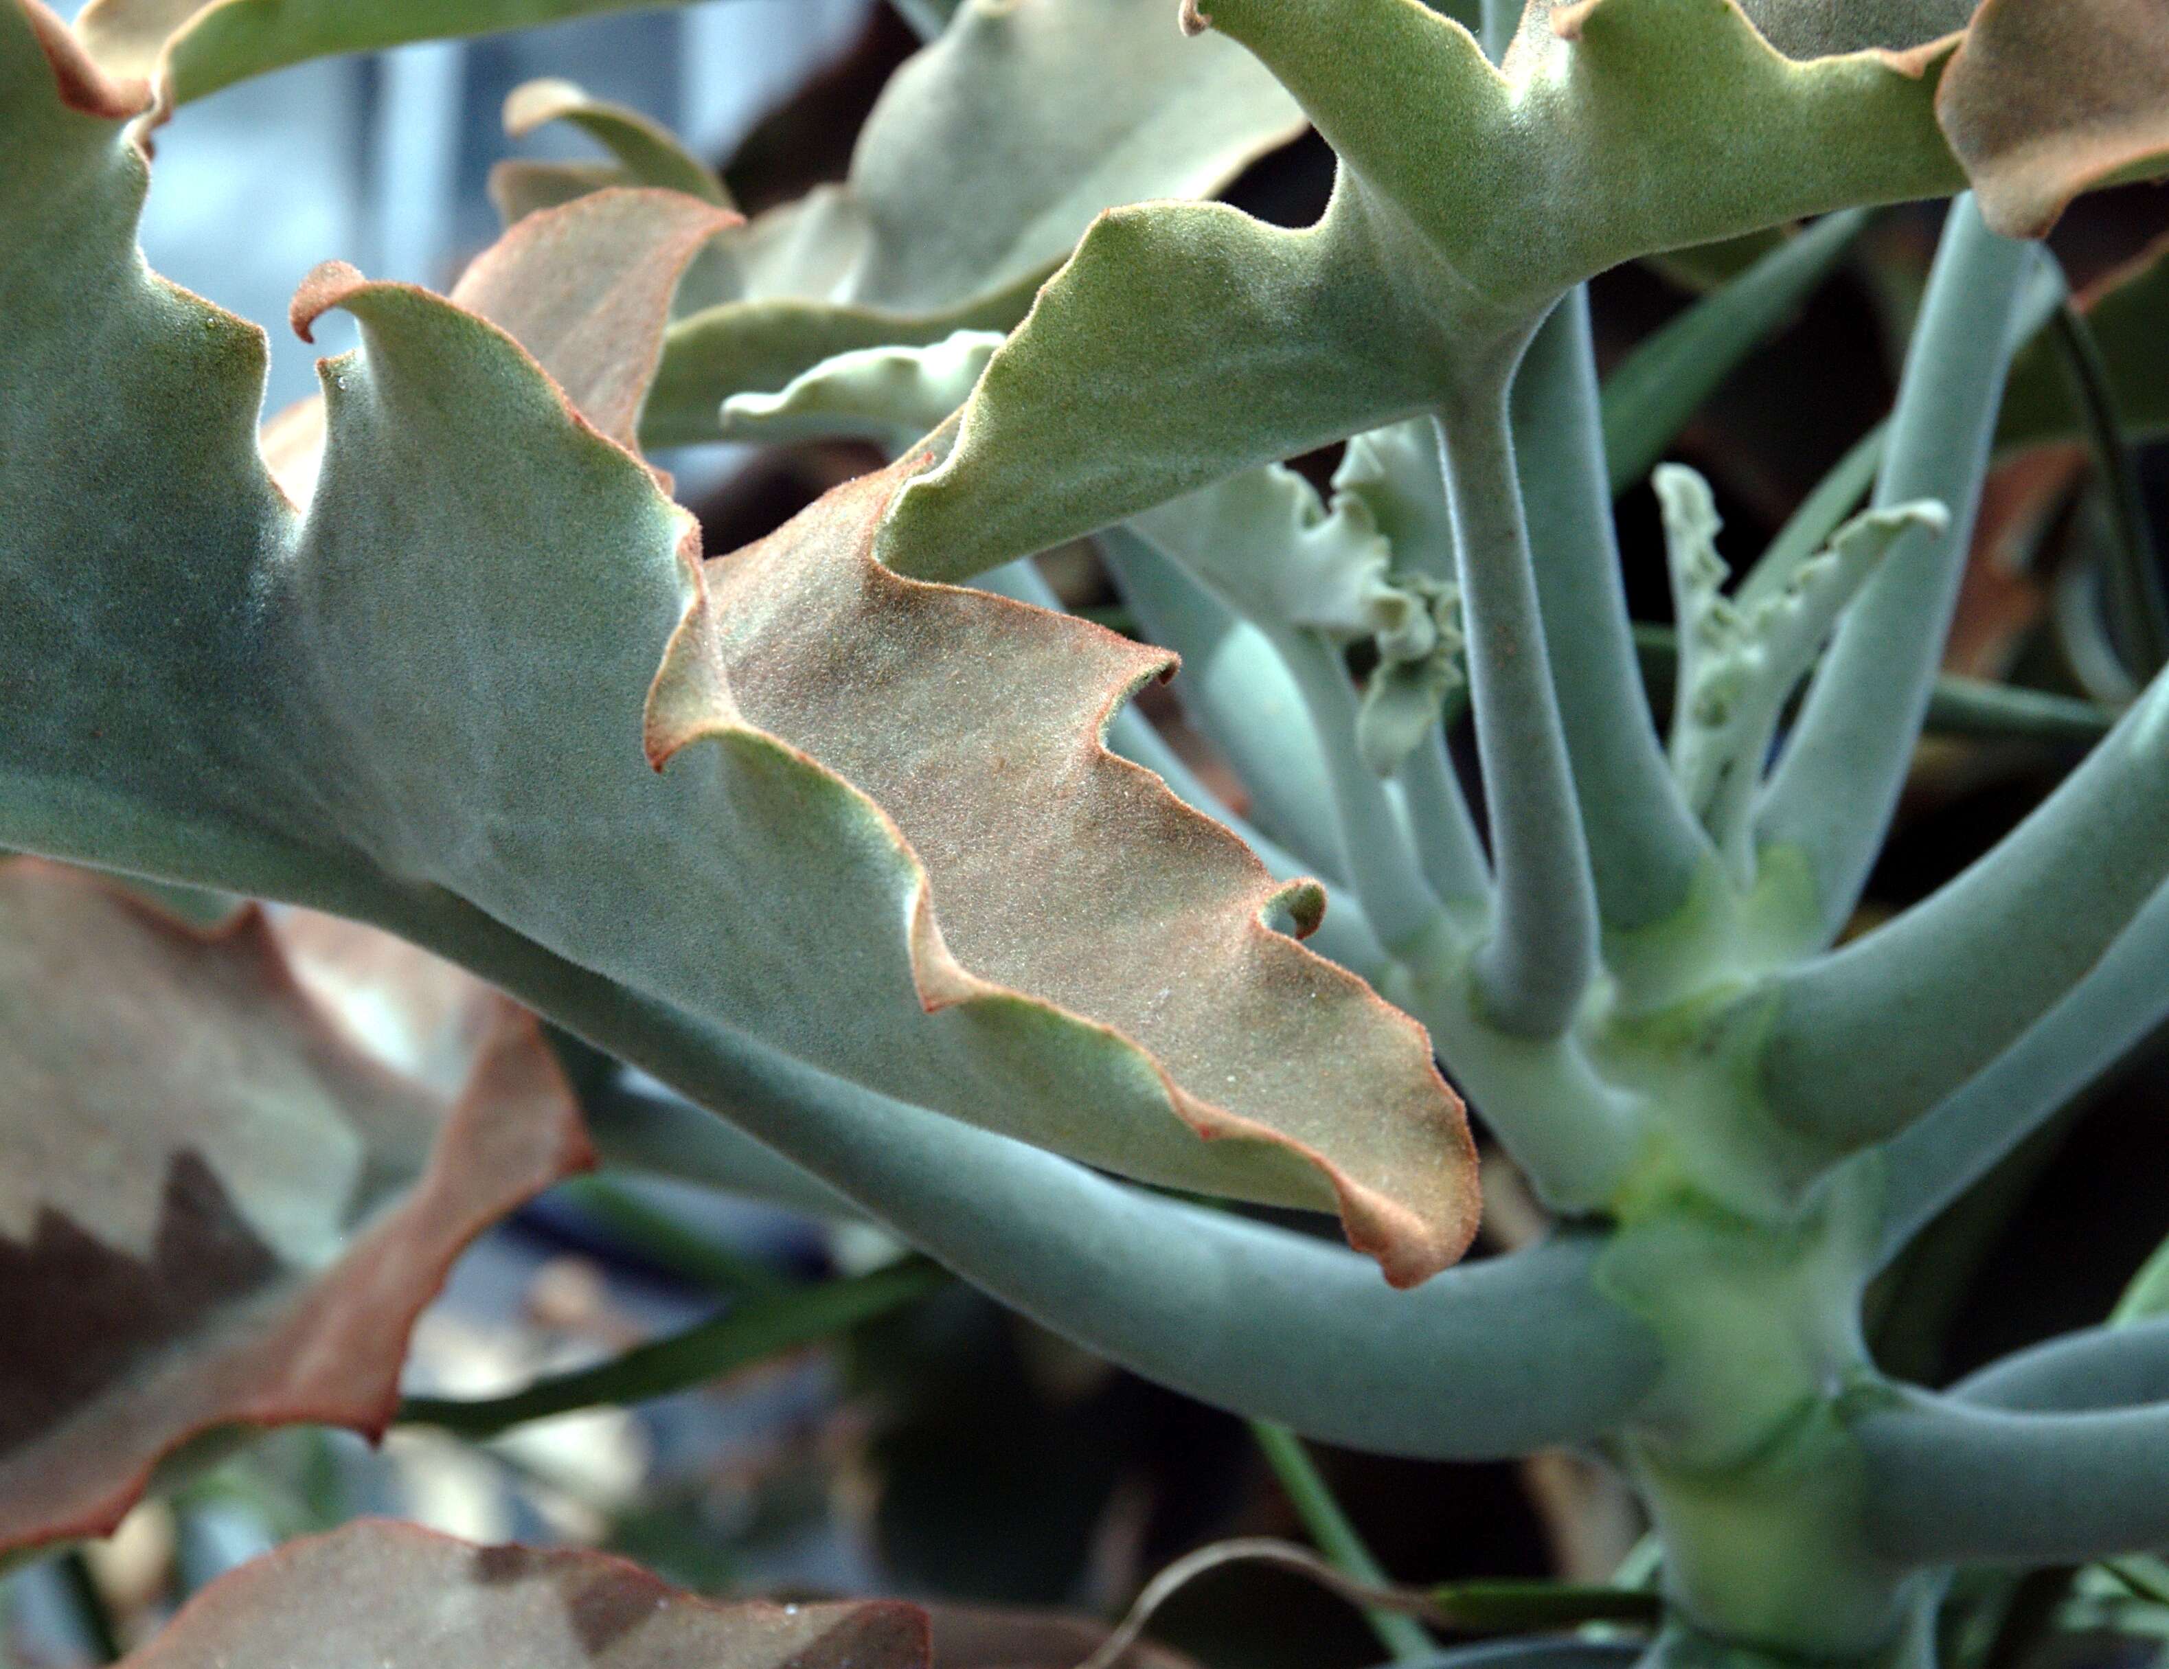
<path fill-rule="evenodd" d="M 965 1281 L 1204 1402 L 1332 1443 L 1473 1461 L 1588 1441 L 1657 1374 L 1646 1328 L 1592 1285 L 1583 1235 L 1395 1291 L 1345 1248 L 1113 1183 L 694 1022 L 449 894 L 315 903 L 460 959 L 698 1103 L 609 1109 L 594 1129 L 605 1157 L 729 1187 L 744 1137 L 703 1111 L 727 1109 Z M 1445 1380 L 1440 1363 L 1455 1365 Z"/>

